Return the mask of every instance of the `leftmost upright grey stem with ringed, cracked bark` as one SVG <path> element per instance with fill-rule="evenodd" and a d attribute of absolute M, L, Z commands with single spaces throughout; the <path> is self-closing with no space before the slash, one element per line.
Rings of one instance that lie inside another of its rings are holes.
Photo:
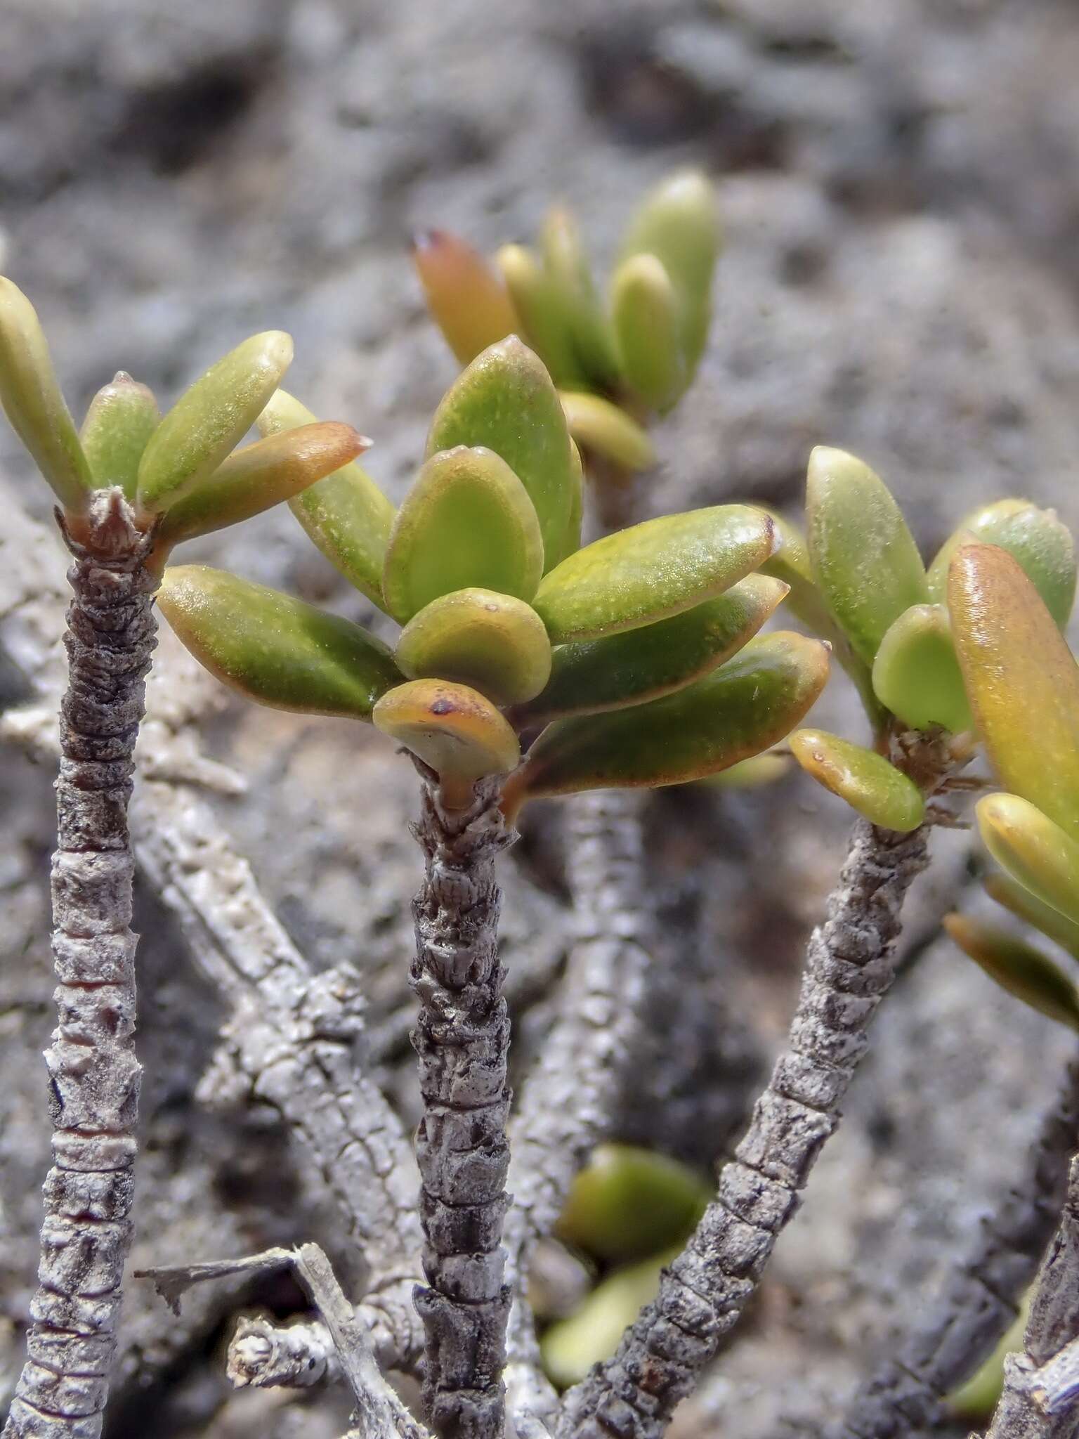
<path fill-rule="evenodd" d="M 59 1025 L 45 1055 L 53 1164 L 7 1439 L 101 1433 L 132 1236 L 141 1069 L 128 802 L 155 580 L 144 566 L 148 537 L 118 489 L 94 498 L 81 543 L 65 538 L 75 563 L 52 866 Z"/>

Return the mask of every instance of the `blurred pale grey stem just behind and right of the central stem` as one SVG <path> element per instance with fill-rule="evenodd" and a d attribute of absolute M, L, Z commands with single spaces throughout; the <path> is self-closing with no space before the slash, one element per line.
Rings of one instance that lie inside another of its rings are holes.
<path fill-rule="evenodd" d="M 527 1302 L 528 1268 L 537 1240 L 554 1229 L 574 1174 L 610 1134 L 633 1056 L 649 966 L 637 800 L 626 790 L 594 790 L 570 802 L 567 875 L 577 940 L 558 1017 L 509 1130 L 514 1204 L 505 1246 L 514 1302 L 506 1384 L 511 1396 L 519 1392 L 516 1402 L 511 1397 L 514 1410 L 528 1402 L 540 1415 L 554 1407 Z"/>

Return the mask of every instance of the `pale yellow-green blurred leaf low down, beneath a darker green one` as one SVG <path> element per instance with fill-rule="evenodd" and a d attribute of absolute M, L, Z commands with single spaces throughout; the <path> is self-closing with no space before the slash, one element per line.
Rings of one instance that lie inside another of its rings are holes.
<path fill-rule="evenodd" d="M 568 1320 L 552 1324 L 542 1340 L 544 1368 L 561 1389 L 577 1384 L 593 1364 L 610 1358 L 619 1340 L 659 1292 L 659 1276 L 680 1245 L 652 1259 L 616 1269 L 601 1279 Z"/>

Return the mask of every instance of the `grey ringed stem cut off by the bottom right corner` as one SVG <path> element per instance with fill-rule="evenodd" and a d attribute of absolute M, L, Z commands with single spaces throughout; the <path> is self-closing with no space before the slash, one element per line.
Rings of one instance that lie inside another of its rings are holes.
<path fill-rule="evenodd" d="M 1004 1363 L 1004 1392 L 987 1439 L 1073 1439 L 1079 1433 L 1079 1156 L 1037 1276 L 1023 1354 Z"/>

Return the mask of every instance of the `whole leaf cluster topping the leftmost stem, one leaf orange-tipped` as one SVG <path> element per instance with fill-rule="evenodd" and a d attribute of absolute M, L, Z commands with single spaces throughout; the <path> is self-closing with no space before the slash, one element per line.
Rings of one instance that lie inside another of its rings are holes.
<path fill-rule="evenodd" d="M 72 519 L 95 489 L 118 486 L 148 527 L 152 563 L 181 540 L 246 519 L 338 469 L 367 440 L 347 425 L 232 453 L 292 360 L 292 340 L 268 331 L 219 360 L 164 416 L 152 393 L 121 371 L 94 397 L 76 433 L 37 315 L 0 279 L 0 401 Z"/>

